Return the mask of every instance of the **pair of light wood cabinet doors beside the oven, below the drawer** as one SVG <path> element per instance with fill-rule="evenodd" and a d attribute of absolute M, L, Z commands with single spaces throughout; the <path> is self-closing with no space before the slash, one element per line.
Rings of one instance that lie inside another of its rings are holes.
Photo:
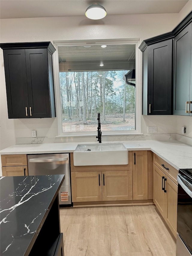
<path fill-rule="evenodd" d="M 155 164 L 153 168 L 153 201 L 173 235 L 177 236 L 178 186 Z"/>

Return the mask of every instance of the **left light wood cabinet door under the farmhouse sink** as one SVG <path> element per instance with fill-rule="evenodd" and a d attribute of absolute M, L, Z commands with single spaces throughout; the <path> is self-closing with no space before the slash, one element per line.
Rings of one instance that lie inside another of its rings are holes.
<path fill-rule="evenodd" d="M 73 202 L 102 201 L 101 172 L 71 173 Z"/>

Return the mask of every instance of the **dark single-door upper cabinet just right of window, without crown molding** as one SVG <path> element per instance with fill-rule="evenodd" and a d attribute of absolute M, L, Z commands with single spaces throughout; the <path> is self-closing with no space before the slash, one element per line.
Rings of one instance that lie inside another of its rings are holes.
<path fill-rule="evenodd" d="M 143 115 L 172 114 L 172 44 L 170 39 L 143 52 Z"/>

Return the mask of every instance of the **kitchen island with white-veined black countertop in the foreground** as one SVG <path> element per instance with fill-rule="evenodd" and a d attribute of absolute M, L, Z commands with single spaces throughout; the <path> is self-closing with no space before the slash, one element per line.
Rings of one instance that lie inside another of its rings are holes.
<path fill-rule="evenodd" d="M 64 255 L 58 191 L 64 175 L 0 177 L 0 255 Z"/>

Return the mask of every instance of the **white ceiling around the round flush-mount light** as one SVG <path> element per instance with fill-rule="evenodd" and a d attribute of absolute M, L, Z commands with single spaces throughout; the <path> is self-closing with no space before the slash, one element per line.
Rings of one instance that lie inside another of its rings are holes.
<path fill-rule="evenodd" d="M 94 2 L 118 15 L 179 13 L 188 0 L 0 0 L 0 18 L 84 16 Z"/>

